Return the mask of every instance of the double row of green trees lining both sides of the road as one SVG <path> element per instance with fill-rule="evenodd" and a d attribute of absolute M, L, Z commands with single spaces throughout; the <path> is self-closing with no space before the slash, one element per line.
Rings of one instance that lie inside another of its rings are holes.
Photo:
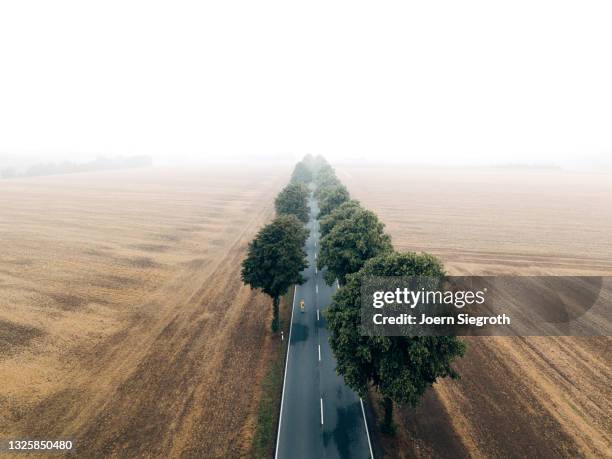
<path fill-rule="evenodd" d="M 321 232 L 318 268 L 340 288 L 327 310 L 336 370 L 361 397 L 368 388 L 382 397 L 383 432 L 392 433 L 393 404 L 415 406 L 437 378 L 457 378 L 452 361 L 463 355 L 456 337 L 365 336 L 360 333 L 361 282 L 366 276 L 445 275 L 442 262 L 422 253 L 397 252 L 377 215 L 351 199 L 334 169 L 322 157 L 307 155 L 278 194 L 276 218 L 250 243 L 242 279 L 273 299 L 272 330 L 278 330 L 278 304 L 288 289 L 304 280 L 309 186 L 319 203 Z"/>

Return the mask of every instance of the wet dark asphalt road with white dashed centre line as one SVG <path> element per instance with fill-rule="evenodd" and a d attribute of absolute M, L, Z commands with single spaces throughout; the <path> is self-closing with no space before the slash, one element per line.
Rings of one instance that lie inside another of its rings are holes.
<path fill-rule="evenodd" d="M 311 215 L 316 215 L 316 202 L 310 206 Z M 303 273 L 306 282 L 296 287 L 293 299 L 276 457 L 369 458 L 361 400 L 336 374 L 336 359 L 328 343 L 324 311 L 336 285 L 327 285 L 316 270 L 318 222 L 311 220 L 308 228 L 309 266 Z M 306 304 L 304 312 L 301 299 Z"/>

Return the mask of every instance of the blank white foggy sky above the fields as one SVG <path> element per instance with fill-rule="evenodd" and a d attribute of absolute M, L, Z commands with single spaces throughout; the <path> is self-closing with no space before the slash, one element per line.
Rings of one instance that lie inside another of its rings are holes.
<path fill-rule="evenodd" d="M 612 156 L 612 2 L 0 3 L 0 154 Z"/>

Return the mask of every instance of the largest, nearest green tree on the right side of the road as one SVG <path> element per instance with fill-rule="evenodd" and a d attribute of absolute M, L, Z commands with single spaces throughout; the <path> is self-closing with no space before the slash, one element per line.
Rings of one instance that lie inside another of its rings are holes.
<path fill-rule="evenodd" d="M 393 402 L 416 406 L 437 378 L 458 378 L 452 361 L 465 345 L 451 336 L 362 336 L 361 283 L 366 276 L 442 278 L 442 263 L 432 255 L 390 252 L 369 260 L 334 295 L 326 318 L 336 370 L 362 397 L 371 384 L 383 397 L 383 431 L 393 431 Z"/>

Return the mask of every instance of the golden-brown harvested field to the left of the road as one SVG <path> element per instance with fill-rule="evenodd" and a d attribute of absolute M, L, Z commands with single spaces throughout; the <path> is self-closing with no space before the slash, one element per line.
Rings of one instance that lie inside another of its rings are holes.
<path fill-rule="evenodd" d="M 240 261 L 289 172 L 0 181 L 0 438 L 74 439 L 82 457 L 247 454 L 270 305 Z"/>

